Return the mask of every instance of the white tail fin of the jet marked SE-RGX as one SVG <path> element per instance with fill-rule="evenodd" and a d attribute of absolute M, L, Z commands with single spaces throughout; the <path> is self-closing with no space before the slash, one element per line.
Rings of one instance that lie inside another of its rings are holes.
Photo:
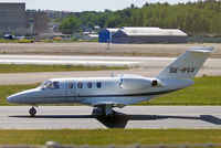
<path fill-rule="evenodd" d="M 156 77 L 165 80 L 193 78 L 212 50 L 213 47 L 189 49 Z"/>

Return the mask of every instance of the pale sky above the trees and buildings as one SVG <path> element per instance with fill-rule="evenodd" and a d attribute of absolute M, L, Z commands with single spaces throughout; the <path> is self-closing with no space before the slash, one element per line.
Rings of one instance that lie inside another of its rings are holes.
<path fill-rule="evenodd" d="M 168 2 L 170 4 L 175 3 L 186 3 L 188 1 L 197 0 L 0 0 L 0 2 L 25 2 L 27 9 L 35 10 L 64 10 L 64 11 L 104 11 L 109 10 L 120 10 L 129 7 L 134 3 L 137 7 L 144 6 L 146 2 Z"/>

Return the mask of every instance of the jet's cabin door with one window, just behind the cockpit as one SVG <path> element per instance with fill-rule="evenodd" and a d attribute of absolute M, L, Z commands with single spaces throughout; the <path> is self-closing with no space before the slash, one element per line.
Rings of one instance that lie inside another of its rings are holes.
<path fill-rule="evenodd" d="M 76 99 L 76 86 L 75 83 L 70 81 L 66 83 L 66 102 L 74 103 Z"/>

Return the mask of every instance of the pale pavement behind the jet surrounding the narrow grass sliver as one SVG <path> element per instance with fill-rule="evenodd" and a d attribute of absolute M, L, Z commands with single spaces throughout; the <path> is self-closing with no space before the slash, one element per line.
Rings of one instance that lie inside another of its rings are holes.
<path fill-rule="evenodd" d="M 57 77 L 91 77 L 116 74 L 137 74 L 155 76 L 168 66 L 173 57 L 133 57 L 133 56 L 69 56 L 69 55 L 0 55 L 0 63 L 13 64 L 80 64 L 80 65 L 127 65 L 126 71 L 83 71 L 83 72 L 41 72 L 0 74 L 0 85 L 42 83 Z M 197 76 L 218 76 L 221 74 L 221 59 L 209 59 Z"/>

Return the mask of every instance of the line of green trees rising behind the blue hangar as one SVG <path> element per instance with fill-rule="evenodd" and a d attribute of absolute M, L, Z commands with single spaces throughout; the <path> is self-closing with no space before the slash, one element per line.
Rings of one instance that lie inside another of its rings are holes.
<path fill-rule="evenodd" d="M 179 28 L 188 33 L 221 33 L 221 0 L 198 2 L 134 4 L 124 10 L 104 12 L 84 11 L 71 13 L 61 21 L 64 33 L 80 31 L 81 27 L 122 28 L 159 27 Z"/>

